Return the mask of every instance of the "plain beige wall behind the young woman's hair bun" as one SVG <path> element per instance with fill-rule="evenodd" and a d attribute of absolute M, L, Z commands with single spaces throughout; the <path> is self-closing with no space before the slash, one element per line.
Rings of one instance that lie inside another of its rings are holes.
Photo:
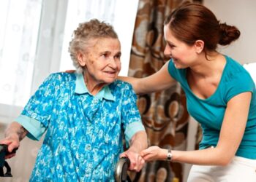
<path fill-rule="evenodd" d="M 255 0 L 204 0 L 203 4 L 211 9 L 222 23 L 236 25 L 241 31 L 240 38 L 221 49 L 240 63 L 256 61 L 256 1 Z"/>

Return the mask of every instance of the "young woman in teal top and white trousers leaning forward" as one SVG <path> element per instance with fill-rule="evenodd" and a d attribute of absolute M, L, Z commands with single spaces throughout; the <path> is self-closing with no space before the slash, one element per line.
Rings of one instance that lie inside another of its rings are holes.
<path fill-rule="evenodd" d="M 236 60 L 217 52 L 217 44 L 238 39 L 240 31 L 219 23 L 200 4 L 185 4 L 165 20 L 165 55 L 170 61 L 142 78 L 121 77 L 138 94 L 179 82 L 187 109 L 203 129 L 200 149 L 167 151 L 151 146 L 146 161 L 193 164 L 188 181 L 256 181 L 256 91 L 249 73 Z M 242 52 L 241 52 L 242 53 Z"/>

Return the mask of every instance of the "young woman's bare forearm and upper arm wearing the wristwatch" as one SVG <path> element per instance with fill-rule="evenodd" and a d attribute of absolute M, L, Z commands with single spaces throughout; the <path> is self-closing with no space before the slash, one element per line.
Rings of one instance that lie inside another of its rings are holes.
<path fill-rule="evenodd" d="M 252 98 L 251 92 L 236 95 L 227 103 L 219 142 L 215 148 L 197 151 L 172 151 L 173 162 L 184 162 L 194 165 L 227 165 L 233 159 L 241 143 L 246 127 L 249 106 Z M 141 152 L 143 159 L 165 160 L 167 149 L 151 146 Z"/>

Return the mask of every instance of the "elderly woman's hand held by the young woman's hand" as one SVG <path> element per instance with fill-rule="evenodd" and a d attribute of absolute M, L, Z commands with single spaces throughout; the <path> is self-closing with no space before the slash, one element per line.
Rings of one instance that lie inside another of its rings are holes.
<path fill-rule="evenodd" d="M 140 154 L 138 154 L 137 151 L 129 149 L 127 151 L 124 151 L 124 153 L 120 154 L 120 157 L 128 157 L 130 160 L 129 170 L 139 172 L 144 164 L 145 161 L 142 157 L 140 157 Z"/>

